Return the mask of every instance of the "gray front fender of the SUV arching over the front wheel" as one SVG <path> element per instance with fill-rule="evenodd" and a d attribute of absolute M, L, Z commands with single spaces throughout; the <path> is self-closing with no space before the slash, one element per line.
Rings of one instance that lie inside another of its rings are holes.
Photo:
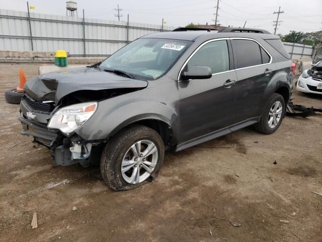
<path fill-rule="evenodd" d="M 94 115 L 75 133 L 85 140 L 108 139 L 139 120 L 155 119 L 168 124 L 173 130 L 173 138 L 177 138 L 179 118 L 174 106 L 142 98 L 139 93 L 144 93 L 143 90 L 134 92 L 135 96 L 132 92 L 99 102 Z"/>

